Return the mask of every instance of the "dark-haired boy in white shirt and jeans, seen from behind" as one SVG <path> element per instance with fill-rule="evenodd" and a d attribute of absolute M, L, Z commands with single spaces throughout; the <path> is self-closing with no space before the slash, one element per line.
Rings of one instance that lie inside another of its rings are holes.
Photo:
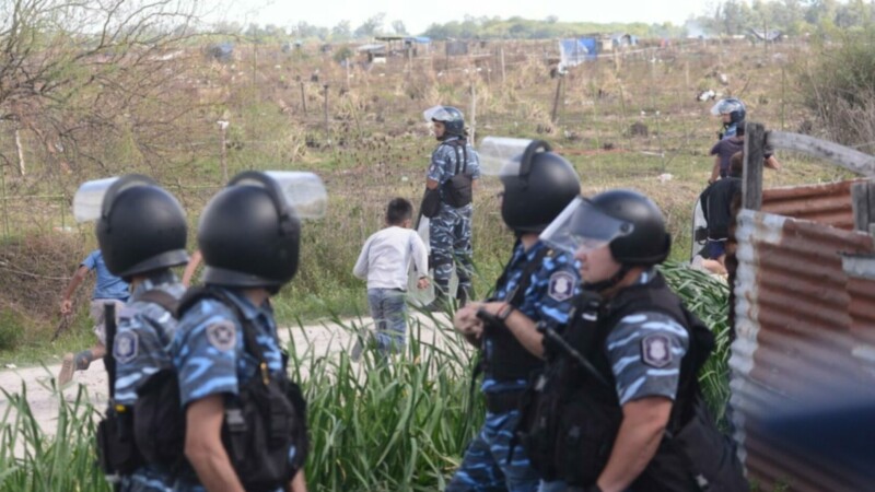
<path fill-rule="evenodd" d="M 376 348 L 388 356 L 405 344 L 407 333 L 407 271 L 413 261 L 418 289 L 429 286 L 425 244 L 410 229 L 413 206 L 395 198 L 386 208 L 386 227 L 374 233 L 362 247 L 352 273 L 368 280 L 368 304 L 374 318 Z M 357 360 L 361 345 L 353 349 Z"/>

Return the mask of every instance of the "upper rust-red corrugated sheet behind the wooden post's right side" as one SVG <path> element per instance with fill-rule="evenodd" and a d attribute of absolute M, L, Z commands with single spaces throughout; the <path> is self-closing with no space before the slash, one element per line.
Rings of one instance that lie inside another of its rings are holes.
<path fill-rule="evenodd" d="M 851 185 L 854 183 L 858 181 L 766 189 L 762 191 L 762 211 L 851 231 L 854 229 L 851 207 Z"/>

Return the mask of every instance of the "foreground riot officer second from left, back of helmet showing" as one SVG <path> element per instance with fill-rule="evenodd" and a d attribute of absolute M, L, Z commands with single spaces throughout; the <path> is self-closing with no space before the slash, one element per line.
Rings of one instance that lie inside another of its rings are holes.
<path fill-rule="evenodd" d="M 183 300 L 173 340 L 196 476 L 176 490 L 306 490 L 304 402 L 268 302 L 298 270 L 300 229 L 278 181 L 257 172 L 234 177 L 200 218 L 206 286 Z"/>

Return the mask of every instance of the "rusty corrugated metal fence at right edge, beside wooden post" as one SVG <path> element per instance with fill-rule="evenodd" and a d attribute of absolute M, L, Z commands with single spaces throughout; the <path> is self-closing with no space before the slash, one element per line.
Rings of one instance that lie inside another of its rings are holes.
<path fill-rule="evenodd" d="M 738 214 L 731 403 L 748 477 L 766 491 L 873 490 L 872 473 L 814 457 L 768 432 L 771 419 L 813 396 L 830 401 L 847 398 L 849 388 L 873 393 L 875 281 L 850 276 L 842 261 L 858 255 L 866 265 L 875 256 L 873 238 L 847 230 L 850 181 L 768 190 L 763 209 L 826 223 Z"/>

